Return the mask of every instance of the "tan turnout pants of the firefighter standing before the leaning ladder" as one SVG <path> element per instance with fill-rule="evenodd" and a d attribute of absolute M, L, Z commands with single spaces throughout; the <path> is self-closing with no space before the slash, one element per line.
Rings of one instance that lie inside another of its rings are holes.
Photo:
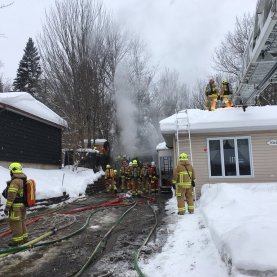
<path fill-rule="evenodd" d="M 176 186 L 177 206 L 178 213 L 184 214 L 186 212 L 185 199 L 188 205 L 189 213 L 194 212 L 194 201 L 193 201 L 193 187 L 192 186 Z"/>

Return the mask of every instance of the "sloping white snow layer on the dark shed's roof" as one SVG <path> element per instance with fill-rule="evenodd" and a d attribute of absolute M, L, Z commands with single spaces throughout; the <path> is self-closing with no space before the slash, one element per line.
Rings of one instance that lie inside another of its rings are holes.
<path fill-rule="evenodd" d="M 36 116 L 40 119 L 67 127 L 67 122 L 64 119 L 27 92 L 0 93 L 0 104 L 15 108 L 18 113 L 23 112 L 24 114 Z"/>

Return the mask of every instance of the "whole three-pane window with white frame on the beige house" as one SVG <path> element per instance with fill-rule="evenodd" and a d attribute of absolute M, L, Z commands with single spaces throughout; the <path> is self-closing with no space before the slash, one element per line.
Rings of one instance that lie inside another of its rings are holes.
<path fill-rule="evenodd" d="M 208 139 L 210 177 L 252 176 L 249 137 Z"/>

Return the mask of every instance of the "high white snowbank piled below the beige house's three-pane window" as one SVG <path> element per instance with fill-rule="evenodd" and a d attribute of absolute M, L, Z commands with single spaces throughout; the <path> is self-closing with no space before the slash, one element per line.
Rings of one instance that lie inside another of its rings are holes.
<path fill-rule="evenodd" d="M 201 212 L 233 270 L 277 273 L 276 183 L 204 185 Z"/>

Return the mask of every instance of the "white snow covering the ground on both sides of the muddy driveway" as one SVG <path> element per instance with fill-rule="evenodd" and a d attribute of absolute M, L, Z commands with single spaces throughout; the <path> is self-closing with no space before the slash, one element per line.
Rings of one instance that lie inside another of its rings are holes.
<path fill-rule="evenodd" d="M 103 174 L 84 168 L 23 171 L 36 180 L 38 198 L 64 191 L 79 197 Z M 0 166 L 0 191 L 9 179 Z M 166 209 L 170 235 L 161 253 L 140 260 L 146 276 L 277 276 L 277 183 L 206 184 L 194 214 L 177 215 L 176 197 Z"/>

